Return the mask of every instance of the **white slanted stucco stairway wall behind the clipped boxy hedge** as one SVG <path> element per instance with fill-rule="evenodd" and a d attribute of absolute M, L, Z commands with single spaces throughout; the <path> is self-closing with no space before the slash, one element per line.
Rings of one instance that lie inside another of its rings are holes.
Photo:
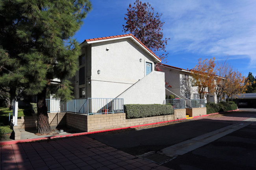
<path fill-rule="evenodd" d="M 152 71 L 117 98 L 123 98 L 124 104 L 163 104 L 165 101 L 164 73 Z"/>

